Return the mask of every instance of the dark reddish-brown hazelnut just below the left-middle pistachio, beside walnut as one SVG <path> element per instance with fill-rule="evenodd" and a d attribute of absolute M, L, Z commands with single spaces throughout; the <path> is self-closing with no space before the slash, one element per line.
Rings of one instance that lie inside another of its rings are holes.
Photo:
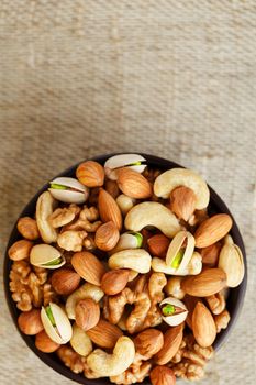
<path fill-rule="evenodd" d="M 57 294 L 67 296 L 80 284 L 80 276 L 70 268 L 60 268 L 52 275 L 52 286 Z"/>

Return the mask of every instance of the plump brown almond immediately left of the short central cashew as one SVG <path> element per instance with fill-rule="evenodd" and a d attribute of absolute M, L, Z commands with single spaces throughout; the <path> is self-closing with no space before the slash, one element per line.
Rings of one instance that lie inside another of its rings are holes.
<path fill-rule="evenodd" d="M 88 251 L 75 253 L 71 257 L 71 265 L 82 279 L 100 286 L 105 268 L 96 255 Z"/>

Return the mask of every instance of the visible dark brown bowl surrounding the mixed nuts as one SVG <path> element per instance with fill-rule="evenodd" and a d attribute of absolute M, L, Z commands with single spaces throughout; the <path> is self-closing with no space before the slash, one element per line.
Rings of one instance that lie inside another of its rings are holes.
<path fill-rule="evenodd" d="M 116 154 L 108 154 L 108 155 L 101 155 L 101 156 L 96 156 L 93 157 L 94 161 L 103 164 L 110 156 L 113 156 Z M 174 168 L 174 167 L 181 167 L 180 165 L 178 165 L 177 163 L 174 163 L 171 161 L 167 161 L 164 160 L 162 157 L 157 157 L 157 156 L 153 156 L 153 155 L 147 155 L 147 154 L 142 154 L 146 160 L 147 160 L 147 164 L 149 166 L 156 167 L 156 168 L 160 168 L 163 170 L 168 169 L 168 168 Z M 68 169 L 66 169 L 65 172 L 63 172 L 62 174 L 59 174 L 58 176 L 75 176 L 75 170 L 76 167 L 78 165 L 75 165 Z M 36 200 L 38 198 L 38 196 L 48 188 L 48 184 L 46 184 L 45 186 L 43 186 L 37 193 L 36 195 L 31 199 L 31 201 L 26 205 L 26 207 L 24 208 L 24 210 L 22 211 L 22 213 L 20 215 L 20 217 L 24 217 L 24 216 L 30 216 L 33 217 L 34 212 L 35 212 L 35 205 L 36 205 Z M 210 199 L 210 212 L 211 213 L 216 213 L 216 212 L 225 212 L 229 213 L 232 218 L 232 213 L 230 212 L 230 210 L 227 209 L 226 205 L 223 202 L 223 200 L 219 197 L 219 195 L 209 186 L 210 188 L 210 194 L 211 194 L 211 199 Z M 19 217 L 19 218 L 20 218 Z M 245 276 L 244 279 L 242 282 L 242 284 L 238 287 L 232 288 L 230 290 L 230 295 L 227 298 L 227 310 L 230 311 L 231 315 L 231 321 L 229 323 L 229 327 L 223 330 L 220 334 L 218 334 L 218 338 L 214 342 L 214 349 L 219 350 L 224 342 L 226 342 L 229 336 L 231 334 L 232 329 L 235 326 L 235 322 L 237 320 L 237 317 L 242 310 L 243 307 L 243 302 L 244 302 L 244 297 L 245 297 L 245 292 L 246 292 L 246 285 L 247 285 L 247 266 L 246 266 L 246 254 L 245 254 L 245 248 L 244 248 L 244 243 L 243 243 L 243 239 L 241 237 L 238 227 L 233 218 L 233 227 L 231 229 L 231 235 L 234 240 L 234 242 L 241 248 L 242 253 L 244 255 L 244 262 L 245 262 Z M 5 297 L 7 297 L 7 301 L 8 301 L 8 306 L 13 319 L 13 322 L 16 326 L 16 329 L 19 330 L 21 337 L 23 338 L 23 340 L 25 341 L 25 343 L 27 344 L 27 346 L 33 350 L 33 352 L 44 362 L 46 363 L 48 366 L 51 366 L 52 369 L 54 369 L 56 372 L 63 374 L 64 376 L 80 383 L 80 384 L 98 384 L 98 385 L 105 385 L 105 384 L 111 384 L 109 382 L 108 378 L 99 378 L 99 380 L 87 380 L 84 377 L 82 374 L 75 374 L 73 373 L 68 367 L 64 366 L 64 364 L 60 362 L 60 360 L 57 358 L 56 354 L 52 353 L 52 354 L 46 354 L 43 353 L 41 351 L 38 351 L 35 348 L 34 344 L 34 338 L 30 337 L 30 336 L 25 336 L 23 334 L 20 329 L 18 328 L 18 317 L 19 317 L 19 309 L 15 306 L 15 302 L 12 300 L 11 297 L 11 292 L 9 289 L 9 273 L 10 273 L 10 268 L 12 265 L 12 261 L 8 257 L 8 249 L 20 239 L 20 234 L 16 230 L 16 223 L 11 232 L 9 242 L 8 242 L 8 246 L 7 246 L 7 252 L 5 252 L 5 260 L 4 260 L 4 288 L 5 288 Z M 145 380 L 143 382 L 143 384 L 149 384 L 148 380 Z"/>

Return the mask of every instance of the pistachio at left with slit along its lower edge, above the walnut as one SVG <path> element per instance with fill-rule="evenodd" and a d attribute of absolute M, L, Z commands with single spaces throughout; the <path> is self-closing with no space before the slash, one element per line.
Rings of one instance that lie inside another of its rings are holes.
<path fill-rule="evenodd" d="M 31 249 L 30 263 L 44 268 L 58 268 L 66 263 L 66 260 L 56 248 L 42 243 Z"/>

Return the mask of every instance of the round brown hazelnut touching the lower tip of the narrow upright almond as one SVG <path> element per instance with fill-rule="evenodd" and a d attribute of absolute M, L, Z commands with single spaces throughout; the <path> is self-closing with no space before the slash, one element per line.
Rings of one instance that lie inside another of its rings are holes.
<path fill-rule="evenodd" d="M 94 242 L 98 249 L 103 251 L 110 251 L 114 249 L 119 242 L 119 229 L 114 222 L 109 221 L 101 224 L 96 231 Z"/>

